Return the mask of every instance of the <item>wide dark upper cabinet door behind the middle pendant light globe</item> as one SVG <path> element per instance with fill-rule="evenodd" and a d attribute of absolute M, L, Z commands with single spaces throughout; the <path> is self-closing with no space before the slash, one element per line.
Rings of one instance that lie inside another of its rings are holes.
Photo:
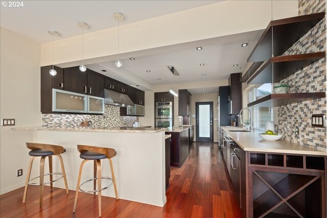
<path fill-rule="evenodd" d="M 79 66 L 64 68 L 64 90 L 87 94 L 87 72 Z"/>

